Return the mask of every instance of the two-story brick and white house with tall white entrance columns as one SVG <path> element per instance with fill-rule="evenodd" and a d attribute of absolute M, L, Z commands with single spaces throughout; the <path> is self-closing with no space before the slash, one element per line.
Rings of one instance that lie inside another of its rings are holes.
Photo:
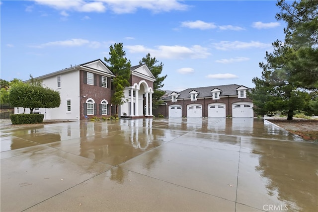
<path fill-rule="evenodd" d="M 112 79 L 115 75 L 101 60 L 56 71 L 43 76 L 44 87 L 60 92 L 58 108 L 36 108 L 33 112 L 44 114 L 44 119 L 82 120 L 92 117 L 108 117 L 114 113 L 111 104 Z M 121 105 L 119 115 L 128 117 L 152 117 L 152 93 L 155 77 L 146 65 L 131 67 L 129 82 L 124 90 L 126 102 Z M 30 113 L 26 108 L 26 113 Z M 24 108 L 15 108 L 14 114 L 23 113 Z"/>

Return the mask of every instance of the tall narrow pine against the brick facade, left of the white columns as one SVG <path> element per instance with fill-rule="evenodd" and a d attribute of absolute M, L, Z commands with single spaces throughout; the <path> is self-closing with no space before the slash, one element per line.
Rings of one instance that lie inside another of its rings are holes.
<path fill-rule="evenodd" d="M 109 58 L 104 57 L 107 68 L 115 75 L 113 85 L 115 93 L 111 97 L 111 102 L 115 105 L 115 113 L 118 115 L 118 107 L 124 103 L 124 88 L 129 86 L 130 60 L 125 58 L 126 52 L 123 50 L 123 43 L 111 45 L 109 47 Z M 107 65 L 108 64 L 108 65 Z"/>

